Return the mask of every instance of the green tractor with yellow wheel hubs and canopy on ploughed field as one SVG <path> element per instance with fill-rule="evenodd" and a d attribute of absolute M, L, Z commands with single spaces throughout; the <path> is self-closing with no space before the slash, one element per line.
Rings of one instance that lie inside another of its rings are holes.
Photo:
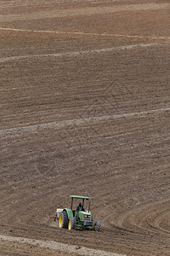
<path fill-rule="evenodd" d="M 57 209 L 56 217 L 60 229 L 75 230 L 81 228 L 83 230 L 95 230 L 100 232 L 101 224 L 99 221 L 94 222 L 92 213 L 90 212 L 90 197 L 70 195 L 71 209 Z M 73 199 L 81 199 L 77 209 L 73 209 Z M 84 209 L 84 201 L 88 201 L 88 211 Z"/>

